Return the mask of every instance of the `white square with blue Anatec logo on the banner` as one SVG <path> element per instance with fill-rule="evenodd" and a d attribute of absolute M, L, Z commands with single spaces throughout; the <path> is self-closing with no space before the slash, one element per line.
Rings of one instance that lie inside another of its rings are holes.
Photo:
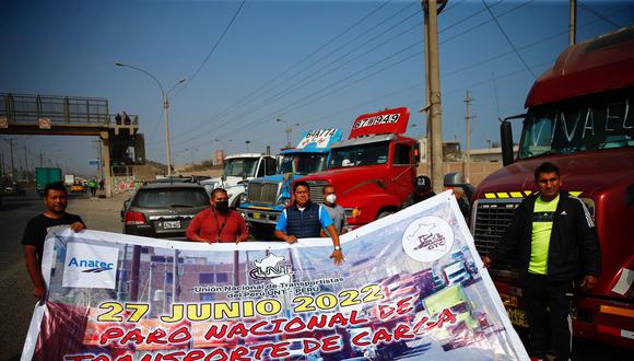
<path fill-rule="evenodd" d="M 62 287 L 116 288 L 119 248 L 84 243 L 69 243 L 66 252 Z"/>

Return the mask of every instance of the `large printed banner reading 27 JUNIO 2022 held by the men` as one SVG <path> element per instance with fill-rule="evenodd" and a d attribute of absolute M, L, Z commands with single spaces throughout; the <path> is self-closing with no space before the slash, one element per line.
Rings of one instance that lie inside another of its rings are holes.
<path fill-rule="evenodd" d="M 528 360 L 454 196 L 341 237 L 45 243 L 22 360 Z M 55 233 L 57 232 L 57 233 Z"/>

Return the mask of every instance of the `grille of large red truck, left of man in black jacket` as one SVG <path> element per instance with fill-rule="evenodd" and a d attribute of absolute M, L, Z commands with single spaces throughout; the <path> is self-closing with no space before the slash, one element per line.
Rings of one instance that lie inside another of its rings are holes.
<path fill-rule="evenodd" d="M 488 256 L 510 224 L 521 199 L 480 199 L 473 213 L 473 238 L 480 256 Z"/>

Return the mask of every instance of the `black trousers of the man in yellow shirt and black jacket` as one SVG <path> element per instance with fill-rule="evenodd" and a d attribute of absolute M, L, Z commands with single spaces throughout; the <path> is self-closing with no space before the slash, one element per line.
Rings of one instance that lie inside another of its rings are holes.
<path fill-rule="evenodd" d="M 555 360 L 570 359 L 573 290 L 573 282 L 550 282 L 545 276 L 540 275 L 529 273 L 523 280 L 521 293 L 529 325 L 529 352 L 532 357 L 543 359 L 550 339 Z"/>

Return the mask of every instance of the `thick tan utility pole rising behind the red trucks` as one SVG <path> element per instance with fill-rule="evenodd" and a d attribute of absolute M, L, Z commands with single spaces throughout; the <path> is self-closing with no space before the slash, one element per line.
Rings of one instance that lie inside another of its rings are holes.
<path fill-rule="evenodd" d="M 441 0 L 441 2 L 444 2 Z M 426 7 L 425 7 L 426 3 Z M 442 10 L 442 9 L 441 9 Z M 432 161 L 432 184 L 435 193 L 443 190 L 443 110 L 441 104 L 441 68 L 438 57 L 438 9 L 436 0 L 424 0 L 427 42 L 425 42 L 425 55 L 427 56 L 428 73 L 428 110 L 427 124 L 430 125 Z"/>

